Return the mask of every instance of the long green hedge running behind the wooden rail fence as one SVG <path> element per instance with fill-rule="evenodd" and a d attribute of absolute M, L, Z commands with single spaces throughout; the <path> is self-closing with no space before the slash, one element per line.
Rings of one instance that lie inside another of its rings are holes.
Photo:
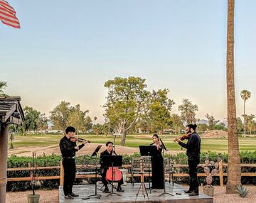
<path fill-rule="evenodd" d="M 213 152 L 202 153 L 201 154 L 201 163 L 204 163 L 206 158 L 206 154 L 208 154 L 209 160 L 216 161 L 218 156 L 223 159 L 224 163 L 228 163 L 228 154 L 218 154 Z M 139 157 L 138 153 L 134 153 L 133 155 L 124 155 L 123 156 L 123 164 L 130 164 L 132 157 Z M 187 156 L 185 153 L 178 153 L 176 155 L 166 155 L 171 161 L 172 164 L 187 164 Z M 41 155 L 37 158 L 37 166 L 59 166 L 60 165 L 60 155 Z M 97 158 L 97 163 L 99 162 L 99 158 Z M 252 152 L 242 152 L 240 153 L 241 163 L 256 163 L 256 151 Z M 26 168 L 28 167 L 28 163 L 32 163 L 31 157 L 18 157 L 16 155 L 12 155 L 8 158 L 8 168 Z M 88 165 L 95 164 L 95 159 L 90 158 L 90 156 L 80 156 L 76 158 L 77 165 Z M 79 170 L 79 169 L 78 169 Z M 188 168 L 176 168 L 176 172 L 179 173 L 187 173 Z M 199 168 L 198 172 L 203 172 L 203 168 Z M 227 168 L 223 168 L 223 172 L 227 172 Z M 242 172 L 256 172 L 256 168 L 242 168 Z M 9 171 L 7 173 L 7 177 L 28 177 L 30 175 L 29 171 Z M 53 170 L 37 170 L 36 175 L 38 176 L 54 176 L 60 175 L 59 169 Z M 200 184 L 205 184 L 205 177 L 198 177 Z M 79 179 L 75 181 L 76 185 L 80 185 L 83 182 L 94 183 L 95 178 L 85 178 L 85 180 Z M 139 182 L 139 178 L 136 179 Z M 177 183 L 188 184 L 188 177 L 176 177 L 175 180 Z M 224 183 L 227 182 L 227 177 L 224 177 Z M 219 177 L 213 178 L 213 185 L 219 185 Z M 255 177 L 242 177 L 242 184 L 252 184 L 256 185 Z M 40 186 L 38 188 L 41 189 L 53 189 L 58 188 L 59 180 L 41 180 Z M 22 190 L 30 190 L 31 182 L 21 181 L 21 182 L 8 182 L 7 183 L 7 191 L 22 191 Z"/>

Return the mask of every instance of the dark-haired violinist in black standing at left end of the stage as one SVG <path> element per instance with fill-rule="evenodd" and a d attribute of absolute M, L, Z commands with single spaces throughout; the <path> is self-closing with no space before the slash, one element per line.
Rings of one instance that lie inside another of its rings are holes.
<path fill-rule="evenodd" d="M 73 182 L 75 181 L 75 152 L 80 150 L 87 141 L 84 141 L 80 146 L 75 143 L 75 128 L 69 126 L 65 129 L 65 136 L 60 140 L 60 151 L 63 157 L 64 168 L 64 195 L 65 199 L 74 199 L 79 197 L 78 194 L 72 192 Z"/>

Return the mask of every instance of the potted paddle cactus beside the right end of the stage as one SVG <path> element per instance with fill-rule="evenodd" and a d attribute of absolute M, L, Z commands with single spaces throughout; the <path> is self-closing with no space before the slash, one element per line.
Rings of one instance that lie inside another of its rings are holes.
<path fill-rule="evenodd" d="M 220 160 L 221 158 L 219 157 L 217 162 L 210 161 L 208 155 L 206 155 L 205 165 L 203 165 L 203 170 L 206 173 L 206 185 L 203 186 L 203 194 L 210 197 L 213 197 L 214 194 L 214 187 L 212 185 L 213 176 L 219 172 L 218 167 Z M 213 168 L 213 170 L 210 171 L 210 168 Z"/>

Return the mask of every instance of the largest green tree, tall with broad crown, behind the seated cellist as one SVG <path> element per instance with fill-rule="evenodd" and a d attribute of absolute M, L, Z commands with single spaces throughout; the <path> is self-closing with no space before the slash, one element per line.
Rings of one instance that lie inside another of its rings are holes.
<path fill-rule="evenodd" d="M 108 89 L 105 115 L 118 133 L 122 133 L 121 145 L 124 146 L 129 131 L 146 108 L 145 79 L 140 77 L 115 77 L 105 82 Z"/>

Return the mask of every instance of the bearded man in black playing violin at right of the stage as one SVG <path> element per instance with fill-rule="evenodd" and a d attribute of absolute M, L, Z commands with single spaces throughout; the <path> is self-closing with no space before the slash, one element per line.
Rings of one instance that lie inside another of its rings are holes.
<path fill-rule="evenodd" d="M 189 168 L 189 190 L 185 191 L 190 196 L 198 195 L 198 177 L 197 177 L 197 165 L 200 163 L 200 150 L 201 150 L 201 138 L 196 133 L 196 124 L 189 124 L 186 126 L 186 133 L 191 133 L 187 143 L 181 142 L 179 138 L 176 141 L 180 146 L 186 148 L 186 155 L 188 156 L 188 168 Z"/>

